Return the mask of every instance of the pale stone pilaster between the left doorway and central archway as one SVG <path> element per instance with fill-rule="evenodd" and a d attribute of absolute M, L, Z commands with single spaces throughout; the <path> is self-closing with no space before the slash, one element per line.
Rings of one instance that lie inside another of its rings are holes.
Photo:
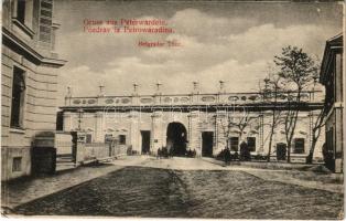
<path fill-rule="evenodd" d="M 163 120 L 162 112 L 153 112 L 151 115 L 151 138 L 150 138 L 150 151 L 156 154 L 158 149 L 163 146 L 162 143 Z"/>

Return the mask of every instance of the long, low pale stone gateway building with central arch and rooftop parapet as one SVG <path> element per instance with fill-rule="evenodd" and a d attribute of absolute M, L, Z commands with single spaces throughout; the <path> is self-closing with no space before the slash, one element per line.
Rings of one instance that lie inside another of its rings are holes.
<path fill-rule="evenodd" d="M 312 141 L 312 125 L 323 106 L 321 94 L 305 92 L 299 105 L 299 120 L 292 140 L 291 161 L 305 162 Z M 197 157 L 215 157 L 225 147 L 238 151 L 246 141 L 252 156 L 267 156 L 272 109 L 284 112 L 285 97 L 277 103 L 260 93 L 191 94 L 73 97 L 61 107 L 63 129 L 83 131 L 86 143 L 118 139 L 137 154 L 155 155 L 166 147 L 175 156 L 195 150 Z M 282 120 L 284 116 L 282 116 Z M 322 157 L 321 136 L 315 159 Z M 272 159 L 285 159 L 286 141 L 281 122 L 272 136 Z M 283 151 L 283 152 L 282 152 Z M 281 156 L 281 158 L 280 158 Z"/>

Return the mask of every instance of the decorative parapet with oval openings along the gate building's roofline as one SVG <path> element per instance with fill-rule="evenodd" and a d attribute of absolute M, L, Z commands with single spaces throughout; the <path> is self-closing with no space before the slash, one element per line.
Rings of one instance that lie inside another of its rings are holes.
<path fill-rule="evenodd" d="M 314 101 L 312 94 L 321 92 L 304 92 L 301 102 L 321 103 Z M 288 102 L 288 96 L 281 95 L 277 102 Z M 223 93 L 223 94 L 176 94 L 176 95 L 139 95 L 139 96 L 95 96 L 95 97 L 65 97 L 65 107 L 130 107 L 130 106 L 194 106 L 194 105 L 244 105 L 273 103 L 273 98 L 263 97 L 260 93 Z M 64 108 L 64 107 L 62 107 Z"/>

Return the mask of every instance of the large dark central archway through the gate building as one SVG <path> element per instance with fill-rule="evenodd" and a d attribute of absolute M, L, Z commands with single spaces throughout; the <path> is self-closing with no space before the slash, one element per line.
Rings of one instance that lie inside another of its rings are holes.
<path fill-rule="evenodd" d="M 167 149 L 174 156 L 184 156 L 186 154 L 187 133 L 181 123 L 170 123 L 167 126 Z"/>

